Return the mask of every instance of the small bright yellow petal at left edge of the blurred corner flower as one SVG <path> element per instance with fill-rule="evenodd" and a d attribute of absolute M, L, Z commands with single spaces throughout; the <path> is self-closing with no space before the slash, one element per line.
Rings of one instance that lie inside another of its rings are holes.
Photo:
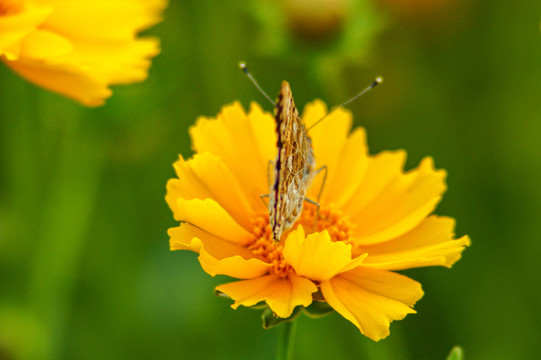
<path fill-rule="evenodd" d="M 35 6 L 34 4 L 18 4 L 19 12 L 9 16 L 0 16 L 0 55 L 11 52 L 13 56 L 18 56 L 20 42 L 38 25 L 43 23 L 51 13 L 49 7 Z"/>

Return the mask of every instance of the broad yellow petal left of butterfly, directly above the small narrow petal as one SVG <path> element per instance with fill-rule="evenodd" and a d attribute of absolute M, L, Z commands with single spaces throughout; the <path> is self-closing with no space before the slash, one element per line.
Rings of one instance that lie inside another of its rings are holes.
<path fill-rule="evenodd" d="M 196 154 L 188 161 L 180 157 L 174 167 L 178 179 L 168 182 L 166 195 L 173 213 L 178 198 L 213 199 L 244 229 L 253 229 L 250 218 L 254 212 L 237 179 L 221 159 L 210 153 Z"/>

